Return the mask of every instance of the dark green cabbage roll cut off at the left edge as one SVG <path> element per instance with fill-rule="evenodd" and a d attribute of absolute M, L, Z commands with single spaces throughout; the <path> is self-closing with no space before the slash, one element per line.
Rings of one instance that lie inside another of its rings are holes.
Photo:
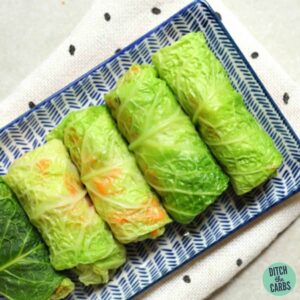
<path fill-rule="evenodd" d="M 0 178 L 0 295 L 14 300 L 65 298 L 73 282 L 54 271 L 49 253 Z"/>

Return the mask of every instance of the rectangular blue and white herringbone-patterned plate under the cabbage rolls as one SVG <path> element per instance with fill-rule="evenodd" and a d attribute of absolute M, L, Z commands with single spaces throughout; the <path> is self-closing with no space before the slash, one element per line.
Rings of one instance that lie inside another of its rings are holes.
<path fill-rule="evenodd" d="M 68 299 L 136 296 L 300 189 L 297 135 L 212 8 L 200 0 L 0 129 L 0 174 L 5 174 L 16 158 L 43 144 L 46 134 L 70 111 L 103 104 L 104 94 L 130 65 L 151 63 L 154 52 L 192 31 L 205 33 L 249 111 L 282 153 L 283 165 L 276 177 L 244 197 L 237 197 L 230 188 L 193 223 L 174 223 L 157 240 L 128 245 L 127 263 L 109 284 L 95 288 L 76 282 Z"/>

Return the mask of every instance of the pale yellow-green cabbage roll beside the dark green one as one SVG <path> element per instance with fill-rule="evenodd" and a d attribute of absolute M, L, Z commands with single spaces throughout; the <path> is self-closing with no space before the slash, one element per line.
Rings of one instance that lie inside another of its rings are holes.
<path fill-rule="evenodd" d="M 117 265 L 124 263 L 123 247 L 96 213 L 60 140 L 26 153 L 3 178 L 41 232 L 56 270 L 75 268 L 80 281 L 94 284 L 107 281 L 110 270 L 101 265 L 115 251 L 121 253 Z"/>

